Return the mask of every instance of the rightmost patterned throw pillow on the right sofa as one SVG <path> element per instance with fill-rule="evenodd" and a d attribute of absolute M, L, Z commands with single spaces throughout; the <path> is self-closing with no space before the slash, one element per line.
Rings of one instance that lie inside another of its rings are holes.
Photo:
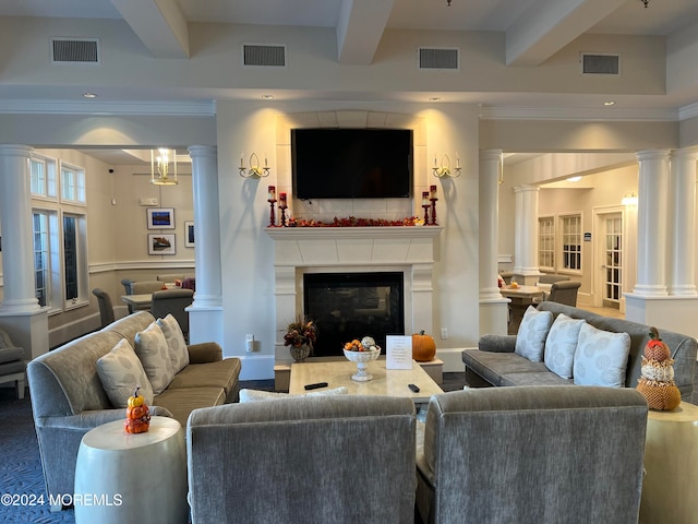
<path fill-rule="evenodd" d="M 627 333 L 611 333 L 582 324 L 574 358 L 575 384 L 623 388 L 629 353 Z"/>

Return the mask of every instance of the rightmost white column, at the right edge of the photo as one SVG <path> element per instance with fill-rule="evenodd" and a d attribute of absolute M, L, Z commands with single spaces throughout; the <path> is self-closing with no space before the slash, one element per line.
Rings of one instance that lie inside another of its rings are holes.
<path fill-rule="evenodd" d="M 672 153 L 669 177 L 667 283 L 670 295 L 697 295 L 696 270 L 696 160 L 698 150 Z"/>

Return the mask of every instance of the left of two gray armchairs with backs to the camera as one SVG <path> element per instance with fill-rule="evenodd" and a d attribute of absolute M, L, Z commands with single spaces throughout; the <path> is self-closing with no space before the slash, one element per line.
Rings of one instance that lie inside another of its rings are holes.
<path fill-rule="evenodd" d="M 195 409 L 192 523 L 411 523 L 414 406 L 369 395 Z"/>

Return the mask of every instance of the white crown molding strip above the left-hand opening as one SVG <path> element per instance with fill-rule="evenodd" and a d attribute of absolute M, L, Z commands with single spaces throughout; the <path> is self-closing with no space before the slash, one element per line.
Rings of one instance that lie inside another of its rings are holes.
<path fill-rule="evenodd" d="M 109 102 L 96 100 L 0 100 L 0 114 L 40 115 L 165 115 L 174 117 L 213 117 L 215 100 L 202 102 Z"/>

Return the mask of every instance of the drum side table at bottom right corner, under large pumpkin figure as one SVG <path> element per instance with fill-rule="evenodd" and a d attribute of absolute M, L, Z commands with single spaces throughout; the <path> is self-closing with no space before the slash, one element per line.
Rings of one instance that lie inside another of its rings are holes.
<path fill-rule="evenodd" d="M 645 442 L 641 524 L 694 524 L 698 520 L 698 406 L 650 410 Z"/>

